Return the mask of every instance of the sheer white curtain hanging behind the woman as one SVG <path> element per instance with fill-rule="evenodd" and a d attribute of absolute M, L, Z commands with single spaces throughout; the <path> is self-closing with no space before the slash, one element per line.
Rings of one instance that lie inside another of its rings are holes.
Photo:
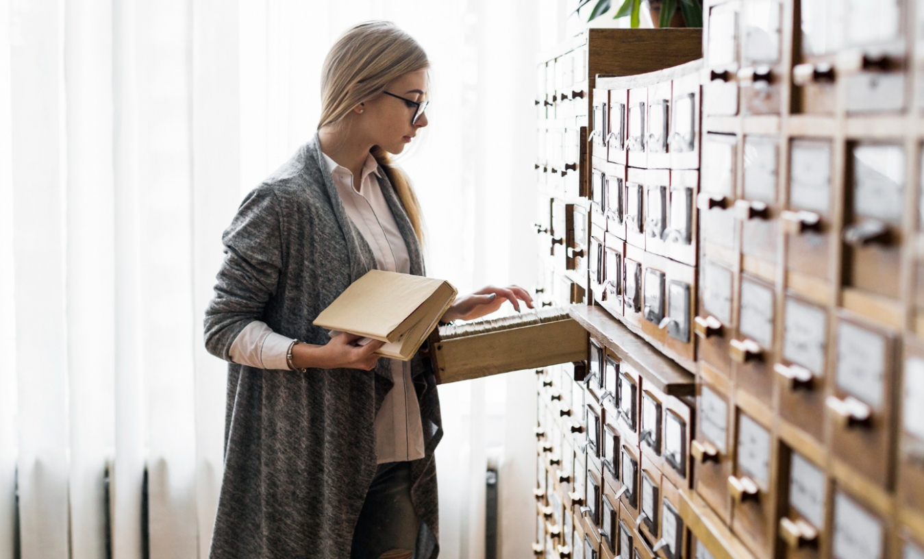
<path fill-rule="evenodd" d="M 532 68 L 566 4 L 0 0 L 0 559 L 207 556 L 225 363 L 201 319 L 220 235 L 313 134 L 349 26 L 393 20 L 432 60 L 431 124 L 399 161 L 428 273 L 530 286 Z M 529 553 L 533 382 L 441 387 L 442 556 L 483 556 L 489 453 L 502 556 Z"/>

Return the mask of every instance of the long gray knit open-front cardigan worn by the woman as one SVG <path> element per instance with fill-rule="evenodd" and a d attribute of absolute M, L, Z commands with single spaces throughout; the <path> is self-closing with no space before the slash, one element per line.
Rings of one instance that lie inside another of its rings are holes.
<path fill-rule="evenodd" d="M 375 267 L 365 239 L 323 172 L 317 135 L 241 203 L 222 237 L 225 262 L 205 311 L 205 346 L 228 351 L 251 321 L 310 344 L 311 322 L 346 286 Z M 417 237 L 395 189 L 379 179 L 407 243 L 411 273 L 424 273 Z M 433 450 L 443 436 L 429 366 L 411 362 L 426 456 L 411 462 L 411 500 L 423 521 L 418 559 L 439 546 Z M 375 475 L 375 413 L 392 388 L 388 361 L 375 371 L 268 371 L 228 365 L 225 476 L 213 559 L 346 559 Z"/>

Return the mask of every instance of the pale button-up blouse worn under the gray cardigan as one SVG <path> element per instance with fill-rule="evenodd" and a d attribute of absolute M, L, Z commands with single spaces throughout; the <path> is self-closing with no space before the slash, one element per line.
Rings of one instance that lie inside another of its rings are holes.
<path fill-rule="evenodd" d="M 379 188 L 378 163 L 370 154 L 362 168 L 359 189 L 353 187 L 353 174 L 323 154 L 346 214 L 369 243 L 379 270 L 410 273 L 410 257 L 401 231 Z M 261 321 L 250 322 L 231 345 L 231 359 L 261 369 L 288 370 L 286 351 L 292 338 L 276 334 Z M 377 462 L 417 460 L 424 456 L 423 427 L 417 393 L 410 376 L 410 363 L 388 359 L 395 386 L 385 395 L 375 416 Z"/>

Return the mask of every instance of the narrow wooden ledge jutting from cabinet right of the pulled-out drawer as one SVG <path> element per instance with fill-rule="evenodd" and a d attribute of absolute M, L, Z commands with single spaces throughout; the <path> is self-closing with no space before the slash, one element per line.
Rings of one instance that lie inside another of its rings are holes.
<path fill-rule="evenodd" d="M 572 305 L 568 313 L 666 395 L 696 395 L 696 378 L 600 307 Z"/>

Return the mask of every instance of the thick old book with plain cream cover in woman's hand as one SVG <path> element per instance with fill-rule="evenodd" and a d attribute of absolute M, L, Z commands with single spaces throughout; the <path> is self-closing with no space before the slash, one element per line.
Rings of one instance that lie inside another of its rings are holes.
<path fill-rule="evenodd" d="M 456 299 L 456 287 L 409 273 L 371 270 L 334 299 L 315 326 L 385 342 L 376 355 L 407 361 Z"/>

